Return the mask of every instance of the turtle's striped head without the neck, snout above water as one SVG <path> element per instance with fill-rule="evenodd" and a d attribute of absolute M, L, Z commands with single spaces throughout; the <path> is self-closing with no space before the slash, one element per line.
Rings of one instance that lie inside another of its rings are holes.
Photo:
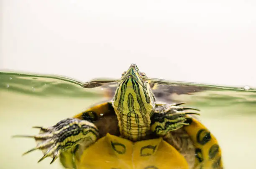
<path fill-rule="evenodd" d="M 122 74 L 115 91 L 113 107 L 123 115 L 135 113 L 148 117 L 155 108 L 155 97 L 147 77 L 135 64 Z"/>

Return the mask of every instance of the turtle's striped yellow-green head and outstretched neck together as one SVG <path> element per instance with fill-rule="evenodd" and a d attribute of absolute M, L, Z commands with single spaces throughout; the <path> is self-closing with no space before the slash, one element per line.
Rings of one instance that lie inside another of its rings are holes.
<path fill-rule="evenodd" d="M 118 117 L 120 135 L 131 141 L 141 140 L 150 131 L 154 94 L 136 65 L 124 73 L 112 105 Z"/>

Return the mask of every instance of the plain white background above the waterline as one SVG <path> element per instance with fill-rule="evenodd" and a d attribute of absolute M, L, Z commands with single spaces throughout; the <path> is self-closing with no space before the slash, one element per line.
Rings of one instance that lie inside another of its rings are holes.
<path fill-rule="evenodd" d="M 256 86 L 255 0 L 1 3 L 1 70 Z"/>

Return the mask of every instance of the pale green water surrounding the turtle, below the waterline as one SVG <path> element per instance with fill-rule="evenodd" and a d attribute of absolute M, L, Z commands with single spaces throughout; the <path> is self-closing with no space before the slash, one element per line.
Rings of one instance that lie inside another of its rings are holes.
<path fill-rule="evenodd" d="M 101 87 L 85 89 L 81 85 L 82 82 L 65 77 L 0 72 L 1 169 L 62 168 L 58 160 L 50 165 L 50 158 L 37 163 L 42 157 L 40 151 L 22 157 L 23 152 L 36 145 L 34 140 L 11 136 L 36 134 L 38 130 L 32 126 L 54 125 L 91 104 L 108 99 Z M 192 88 L 188 94 L 186 87 L 200 89 Z M 167 88 L 173 92 L 165 98 L 169 102 L 187 102 L 201 110 L 202 123 L 217 137 L 222 148 L 226 169 L 256 167 L 255 89 L 245 91 L 242 87 L 181 82 L 169 82 Z M 161 99 L 161 90 L 155 92 Z"/>

